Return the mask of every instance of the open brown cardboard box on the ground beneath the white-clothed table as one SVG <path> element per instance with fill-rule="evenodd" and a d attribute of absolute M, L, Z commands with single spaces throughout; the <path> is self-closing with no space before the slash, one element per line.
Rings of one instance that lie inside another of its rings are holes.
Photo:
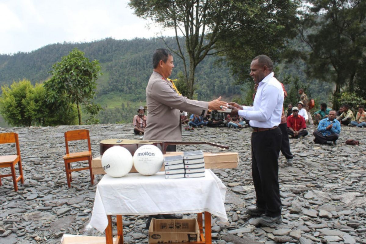
<path fill-rule="evenodd" d="M 199 241 L 197 219 L 152 219 L 149 244 Z"/>

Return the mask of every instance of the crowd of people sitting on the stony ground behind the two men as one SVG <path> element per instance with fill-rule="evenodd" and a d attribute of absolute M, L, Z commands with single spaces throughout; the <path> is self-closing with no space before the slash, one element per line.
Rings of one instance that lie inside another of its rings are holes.
<path fill-rule="evenodd" d="M 285 91 L 285 90 L 284 90 Z M 287 93 L 286 93 L 287 94 Z M 363 105 L 358 106 L 356 117 L 354 116 L 350 106 L 344 104 L 340 106 L 338 111 L 327 108 L 326 103 L 320 104 L 320 109 L 314 113 L 314 120 L 311 118 L 307 96 L 303 90 L 299 90 L 302 101 L 299 101 L 297 106 L 292 104 L 287 105 L 287 109 L 283 110 L 283 116 L 287 118 L 285 126 L 287 126 L 288 138 L 303 138 L 308 135 L 306 124 L 318 125 L 314 131 L 314 143 L 319 144 L 336 144 L 341 126 L 348 127 L 366 127 L 366 112 Z M 146 127 L 146 108 L 140 106 L 137 109 L 137 115 L 134 116 L 133 126 L 136 135 L 143 135 Z M 311 119 L 310 119 L 311 118 Z M 203 126 L 208 127 L 228 127 L 228 128 L 248 128 L 250 127 L 249 120 L 242 116 L 230 116 L 228 113 L 223 113 L 218 110 L 209 111 L 205 117 L 191 114 L 188 118 L 187 112 L 180 111 L 180 119 L 182 125 L 186 124 L 186 130 Z"/>

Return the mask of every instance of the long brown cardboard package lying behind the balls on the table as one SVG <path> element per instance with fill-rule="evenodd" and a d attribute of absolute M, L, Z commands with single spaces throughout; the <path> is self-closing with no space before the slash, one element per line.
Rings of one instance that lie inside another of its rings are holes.
<path fill-rule="evenodd" d="M 183 155 L 183 152 L 167 152 L 164 154 L 165 156 L 173 156 L 173 155 Z M 239 154 L 238 153 L 210 153 L 204 152 L 203 158 L 205 158 L 205 168 L 206 169 L 232 169 L 238 167 L 239 162 Z M 93 170 L 93 174 L 105 174 L 105 171 L 102 168 L 101 157 L 96 157 L 91 160 L 91 168 Z M 161 167 L 160 171 L 164 171 L 164 166 Z M 130 173 L 136 173 L 137 170 L 134 166 Z"/>

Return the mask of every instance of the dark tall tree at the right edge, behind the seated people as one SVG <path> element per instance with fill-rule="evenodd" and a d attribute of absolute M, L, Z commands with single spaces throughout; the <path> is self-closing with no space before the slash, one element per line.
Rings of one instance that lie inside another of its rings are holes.
<path fill-rule="evenodd" d="M 338 108 L 341 88 L 354 91 L 366 55 L 366 1 L 308 0 L 300 34 L 311 48 L 307 73 L 336 84 L 333 108 Z"/>

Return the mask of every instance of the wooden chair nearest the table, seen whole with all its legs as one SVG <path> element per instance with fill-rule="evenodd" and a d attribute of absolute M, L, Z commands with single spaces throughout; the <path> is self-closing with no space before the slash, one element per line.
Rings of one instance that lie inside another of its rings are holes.
<path fill-rule="evenodd" d="M 78 152 L 78 153 L 69 153 L 68 142 L 72 140 L 87 140 L 88 141 L 88 151 Z M 65 162 L 65 169 L 66 169 L 66 178 L 67 178 L 67 185 L 71 187 L 71 172 L 79 171 L 79 170 L 86 170 L 89 169 L 90 172 L 90 181 L 91 184 L 94 185 L 94 175 L 91 170 L 91 147 L 90 147 L 90 138 L 89 138 L 89 131 L 87 129 L 78 129 L 75 131 L 66 131 L 65 132 L 65 144 L 66 144 L 66 155 L 64 155 L 63 159 Z M 89 167 L 85 168 L 76 168 L 71 169 L 72 162 L 79 162 L 79 161 L 88 161 Z"/>

